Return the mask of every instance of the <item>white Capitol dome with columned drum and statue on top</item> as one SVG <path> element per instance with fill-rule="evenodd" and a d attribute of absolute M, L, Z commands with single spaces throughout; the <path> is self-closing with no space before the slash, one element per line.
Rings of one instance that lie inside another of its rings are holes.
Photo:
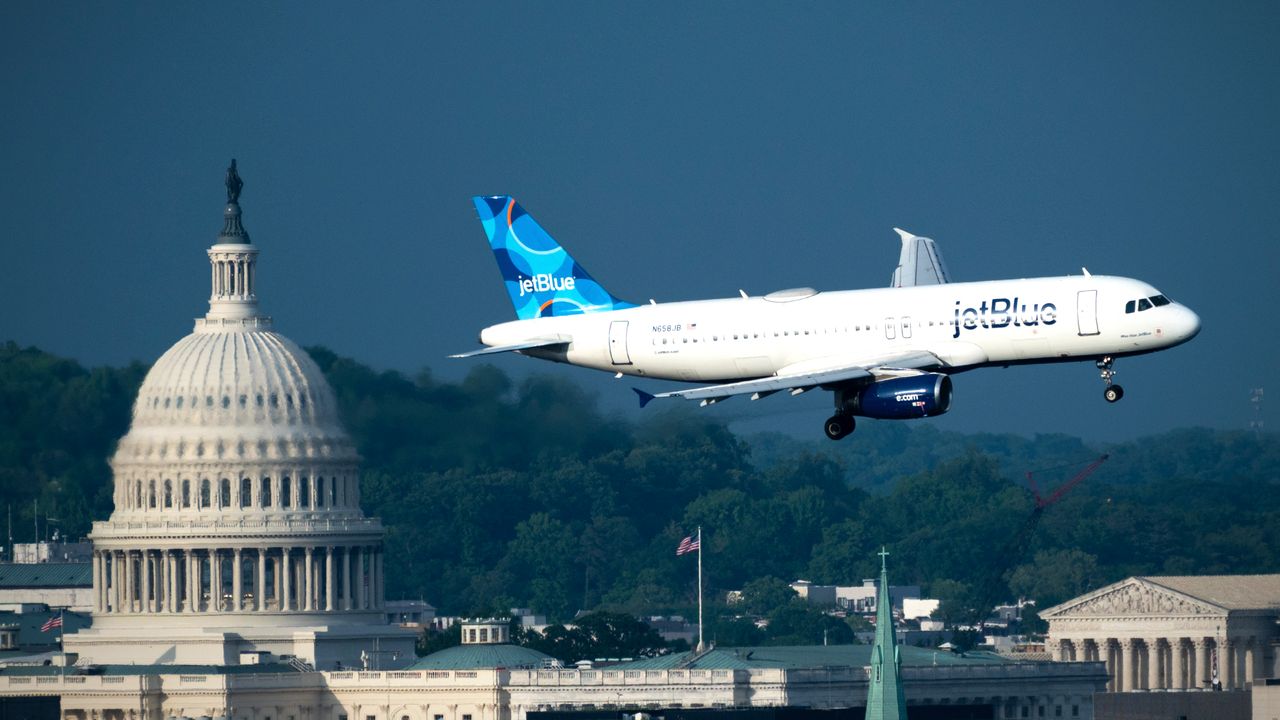
<path fill-rule="evenodd" d="M 111 457 L 115 507 L 90 536 L 93 626 L 67 648 L 95 662 L 407 661 L 413 638 L 387 621 L 383 527 L 360 509 L 333 391 L 259 311 L 242 186 L 233 160 L 209 313 L 138 391 Z"/>

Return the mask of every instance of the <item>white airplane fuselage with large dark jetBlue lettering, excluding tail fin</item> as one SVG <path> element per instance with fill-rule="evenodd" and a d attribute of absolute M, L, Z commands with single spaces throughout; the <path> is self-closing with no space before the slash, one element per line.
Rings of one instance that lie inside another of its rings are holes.
<path fill-rule="evenodd" d="M 516 320 L 480 342 L 559 337 L 563 351 L 527 355 L 599 370 L 687 382 L 733 382 L 782 369 L 820 370 L 849 357 L 920 350 L 942 372 L 1153 352 L 1185 342 L 1199 318 L 1119 277 L 1071 275 L 841 292 L 783 291 Z M 1133 307 L 1130 305 L 1130 307 Z"/>

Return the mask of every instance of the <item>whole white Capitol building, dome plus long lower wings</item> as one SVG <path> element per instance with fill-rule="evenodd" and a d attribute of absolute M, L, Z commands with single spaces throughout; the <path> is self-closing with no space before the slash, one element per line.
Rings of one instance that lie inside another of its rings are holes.
<path fill-rule="evenodd" d="M 388 621 L 384 543 L 333 391 L 257 299 L 259 247 L 227 173 L 209 313 L 152 366 L 93 524 L 92 625 L 51 665 L 0 667 L 0 706 L 63 720 L 553 720 L 618 712 L 861 717 L 869 646 L 708 648 L 563 667 L 503 619 L 415 657 Z M 901 647 L 925 717 L 1093 716 L 1101 660 L 1012 661 Z M 45 705 L 40 705 L 44 702 Z M 23 706 L 27 707 L 27 706 Z M 42 708 L 42 710 L 41 710 Z M 4 707 L 0 707 L 4 710 Z M 658 715 L 654 715 L 657 717 Z"/>

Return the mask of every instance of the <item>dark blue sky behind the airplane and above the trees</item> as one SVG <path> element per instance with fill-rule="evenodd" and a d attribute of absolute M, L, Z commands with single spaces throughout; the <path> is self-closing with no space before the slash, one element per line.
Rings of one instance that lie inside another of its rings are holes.
<path fill-rule="evenodd" d="M 511 318 L 468 197 L 513 193 L 637 301 L 883 286 L 900 225 L 957 279 L 1084 265 L 1203 319 L 1116 406 L 1091 364 L 960 375 L 950 429 L 1244 427 L 1276 369 L 1276 3 L 14 1 L 0 41 L 0 338 L 88 365 L 205 313 L 234 156 L 278 329 L 376 368 L 460 377 Z"/>

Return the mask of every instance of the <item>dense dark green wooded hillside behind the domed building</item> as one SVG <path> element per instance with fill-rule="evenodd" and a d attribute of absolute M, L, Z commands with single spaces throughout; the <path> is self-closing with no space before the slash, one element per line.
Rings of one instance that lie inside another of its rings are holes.
<path fill-rule="evenodd" d="M 883 544 L 895 583 L 925 585 L 956 616 L 988 594 L 1043 607 L 1130 574 L 1280 568 L 1275 434 L 1094 447 L 868 421 L 844 443 L 739 437 L 685 406 L 625 421 L 556 378 L 477 366 L 452 383 L 310 352 L 364 456 L 365 511 L 388 528 L 389 597 L 445 614 L 690 616 L 696 562 L 675 548 L 698 525 L 708 597 L 859 583 Z M 109 515 L 106 457 L 143 373 L 0 351 L 0 487 L 19 541 L 36 497 L 72 536 Z M 1023 473 L 1052 487 L 1103 451 L 1111 460 L 1012 547 L 1033 510 Z"/>

